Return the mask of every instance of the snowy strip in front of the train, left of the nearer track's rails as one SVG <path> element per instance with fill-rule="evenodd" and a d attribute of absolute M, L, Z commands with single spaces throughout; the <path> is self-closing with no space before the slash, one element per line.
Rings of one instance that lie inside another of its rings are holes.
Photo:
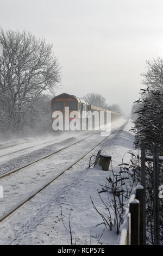
<path fill-rule="evenodd" d="M 37 137 L 26 139 L 26 141 L 12 141 L 8 145 L 8 142 L 3 143 L 3 147 L 0 147 L 0 170 L 2 170 L 2 164 L 11 161 L 12 167 L 13 162 L 20 162 L 21 156 L 21 164 L 22 161 L 28 163 L 29 161 L 34 161 L 36 158 L 41 157 L 41 155 L 45 155 L 51 153 L 52 150 L 58 149 L 61 146 L 68 145 L 70 143 L 76 142 L 79 139 L 87 137 L 92 132 L 85 131 L 82 133 L 77 132 L 62 132 L 55 133 L 53 135 L 48 135 L 45 137 Z M 1 143 L 2 144 L 2 143 Z M 11 147 L 9 147 L 11 145 Z M 6 167 L 5 167 L 6 169 Z"/>

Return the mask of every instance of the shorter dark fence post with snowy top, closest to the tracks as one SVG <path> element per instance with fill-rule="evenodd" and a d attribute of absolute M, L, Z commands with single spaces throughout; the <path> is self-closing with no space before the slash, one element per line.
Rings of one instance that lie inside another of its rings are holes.
<path fill-rule="evenodd" d="M 140 203 L 135 199 L 131 201 L 129 205 L 129 212 L 131 214 L 131 245 L 139 245 L 139 233 L 140 233 Z"/>

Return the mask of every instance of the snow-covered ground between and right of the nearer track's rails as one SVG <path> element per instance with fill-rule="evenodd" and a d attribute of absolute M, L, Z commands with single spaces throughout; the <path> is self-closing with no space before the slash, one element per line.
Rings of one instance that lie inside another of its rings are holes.
<path fill-rule="evenodd" d="M 103 210 L 104 206 L 98 197 L 97 189 L 100 190 L 100 185 L 105 184 L 105 178 L 106 176 L 109 177 L 110 172 L 94 168 L 88 169 L 87 167 L 90 156 L 96 155 L 101 149 L 102 153 L 112 156 L 113 168 L 118 170 L 118 164 L 121 163 L 123 155 L 127 151 L 133 151 L 134 136 L 129 132 L 132 125 L 131 120 L 129 120 L 123 130 L 112 133 L 108 139 L 80 160 L 73 168 L 1 222 L 0 243 L 2 245 L 67 245 L 68 242 L 70 243 L 70 234 L 61 220 L 62 208 L 66 227 L 68 227 L 70 209 L 73 209 L 71 212 L 71 229 L 73 241 L 76 239 L 77 244 L 116 244 L 115 231 L 104 230 L 103 225 L 96 227 L 102 220 L 93 209 L 90 200 L 91 195 L 97 208 Z M 79 147 L 73 147 L 62 154 L 50 157 L 49 161 L 42 160 L 42 163 L 37 167 L 28 167 L 28 170 L 23 170 L 3 179 L 1 185 L 4 186 L 4 198 L 1 199 L 0 214 L 3 215 L 11 205 L 14 206 L 18 200 L 22 200 L 38 185 L 41 186 L 43 182 L 45 183 L 45 179 L 51 178 L 54 173 L 56 174 L 66 165 L 74 162 L 81 154 L 84 154 L 85 150 L 89 151 L 93 144 L 100 141 L 99 137 L 101 136 L 96 135 L 92 137 L 93 139 L 90 138 L 82 142 L 83 144 L 80 144 L 82 151 L 79 151 Z M 130 155 L 127 154 L 124 161 L 129 162 L 129 159 Z M 107 199 L 108 195 L 104 195 L 104 197 Z"/>

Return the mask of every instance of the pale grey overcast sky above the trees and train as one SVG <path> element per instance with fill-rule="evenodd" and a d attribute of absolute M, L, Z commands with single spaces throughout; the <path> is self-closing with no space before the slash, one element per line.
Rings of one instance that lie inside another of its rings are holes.
<path fill-rule="evenodd" d="M 0 26 L 53 43 L 62 88 L 130 112 L 146 59 L 163 54 L 162 0 L 0 0 Z"/>

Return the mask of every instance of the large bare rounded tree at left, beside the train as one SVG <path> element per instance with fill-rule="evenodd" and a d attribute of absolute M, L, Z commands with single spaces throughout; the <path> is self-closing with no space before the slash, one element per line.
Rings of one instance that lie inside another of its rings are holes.
<path fill-rule="evenodd" d="M 45 90 L 60 82 L 60 68 L 52 45 L 24 32 L 0 31 L 0 104 L 12 128 L 20 130 L 22 115 Z"/>

